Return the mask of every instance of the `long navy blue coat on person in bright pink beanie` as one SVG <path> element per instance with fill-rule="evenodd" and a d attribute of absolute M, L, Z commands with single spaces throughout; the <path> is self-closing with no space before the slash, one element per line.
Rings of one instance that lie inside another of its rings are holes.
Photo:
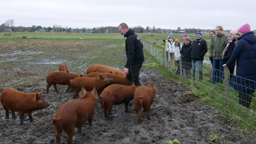
<path fill-rule="evenodd" d="M 232 56 L 226 63 L 230 67 L 236 61 L 234 89 L 239 93 L 255 92 L 256 87 L 256 36 L 253 32 L 244 33 Z"/>

